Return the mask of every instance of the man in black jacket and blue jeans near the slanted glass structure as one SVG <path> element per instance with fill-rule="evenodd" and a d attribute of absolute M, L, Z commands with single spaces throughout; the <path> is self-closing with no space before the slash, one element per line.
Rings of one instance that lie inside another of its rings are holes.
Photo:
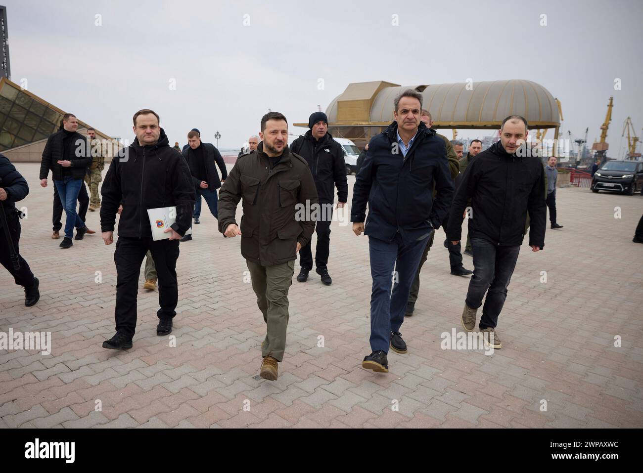
<path fill-rule="evenodd" d="M 67 214 L 65 238 L 60 247 L 69 248 L 73 245 L 71 238 L 74 236 L 74 227 L 77 229 L 77 240 L 82 240 L 86 233 L 85 222 L 76 213 L 76 201 L 80 188 L 85 186 L 83 179 L 87 168 L 91 166 L 92 158 L 87 154 L 85 137 L 76 131 L 77 118 L 71 113 L 64 114 L 62 126 L 62 130 L 47 139 L 42 151 L 40 179 L 41 186 L 47 187 L 47 176 L 51 170 L 60 203 Z"/>

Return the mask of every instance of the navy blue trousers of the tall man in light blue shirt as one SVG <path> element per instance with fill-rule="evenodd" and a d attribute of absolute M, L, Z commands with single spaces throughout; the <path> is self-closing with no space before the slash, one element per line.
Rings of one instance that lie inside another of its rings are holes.
<path fill-rule="evenodd" d="M 411 283 L 429 237 L 408 244 L 402 242 L 399 233 L 390 242 L 368 237 L 370 274 L 373 278 L 370 348 L 374 352 L 382 350 L 388 353 L 391 332 L 399 332 L 402 326 Z"/>

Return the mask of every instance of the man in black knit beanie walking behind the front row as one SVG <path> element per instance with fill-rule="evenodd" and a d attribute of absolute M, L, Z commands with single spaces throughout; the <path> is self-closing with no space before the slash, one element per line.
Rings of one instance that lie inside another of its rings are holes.
<path fill-rule="evenodd" d="M 321 282 L 331 285 L 332 279 L 328 274 L 328 256 L 331 245 L 332 204 L 334 188 L 337 186 L 338 208 L 346 205 L 349 194 L 349 184 L 346 179 L 346 163 L 340 143 L 332 139 L 328 132 L 328 118 L 324 112 L 314 112 L 308 119 L 310 130 L 305 135 L 293 141 L 290 149 L 302 156 L 308 163 L 314 177 L 319 195 L 320 219 L 317 220 L 317 249 L 315 265 Z M 300 283 L 308 279 L 312 269 L 311 243 L 308 242 L 299 252 L 299 264 L 302 267 L 297 280 Z"/>

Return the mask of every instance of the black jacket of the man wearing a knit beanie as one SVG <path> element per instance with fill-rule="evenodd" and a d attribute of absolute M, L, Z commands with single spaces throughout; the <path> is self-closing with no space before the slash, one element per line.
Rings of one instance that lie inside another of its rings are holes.
<path fill-rule="evenodd" d="M 302 156 L 308 163 L 317 186 L 320 204 L 332 204 L 335 200 L 334 187 L 337 186 L 337 199 L 346 202 L 349 198 L 349 183 L 346 179 L 344 150 L 340 143 L 326 133 L 319 141 L 312 136 L 312 130 L 293 141 L 291 152 Z"/>

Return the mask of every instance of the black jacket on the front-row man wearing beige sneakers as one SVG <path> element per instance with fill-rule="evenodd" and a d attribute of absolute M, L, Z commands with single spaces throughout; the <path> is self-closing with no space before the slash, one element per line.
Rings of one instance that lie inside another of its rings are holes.
<path fill-rule="evenodd" d="M 462 237 L 469 199 L 470 238 L 484 238 L 499 246 L 521 245 L 529 213 L 529 244 L 545 246 L 545 172 L 538 157 L 509 154 L 498 141 L 469 161 L 451 206 L 446 228 L 449 241 Z"/>

